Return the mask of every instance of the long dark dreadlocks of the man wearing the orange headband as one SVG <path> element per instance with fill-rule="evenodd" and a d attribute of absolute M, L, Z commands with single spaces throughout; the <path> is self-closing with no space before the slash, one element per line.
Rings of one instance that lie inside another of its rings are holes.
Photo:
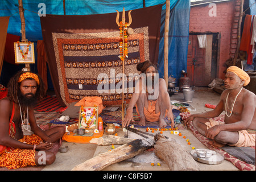
<path fill-rule="evenodd" d="M 18 103 L 18 92 L 20 92 L 20 82 L 18 82 L 20 75 L 22 75 L 23 71 L 19 71 L 18 73 L 16 73 L 9 81 L 7 88 L 8 88 L 8 94 L 7 97 L 13 101 Z M 35 73 L 36 74 L 36 73 Z M 42 80 L 42 78 L 36 74 L 39 78 L 40 81 L 40 85 L 37 84 L 37 89 L 36 89 L 36 96 L 38 96 L 38 101 L 42 101 L 45 94 L 46 94 L 46 87 L 44 86 L 44 82 Z M 32 78 L 27 78 L 27 79 L 32 79 Z"/>

